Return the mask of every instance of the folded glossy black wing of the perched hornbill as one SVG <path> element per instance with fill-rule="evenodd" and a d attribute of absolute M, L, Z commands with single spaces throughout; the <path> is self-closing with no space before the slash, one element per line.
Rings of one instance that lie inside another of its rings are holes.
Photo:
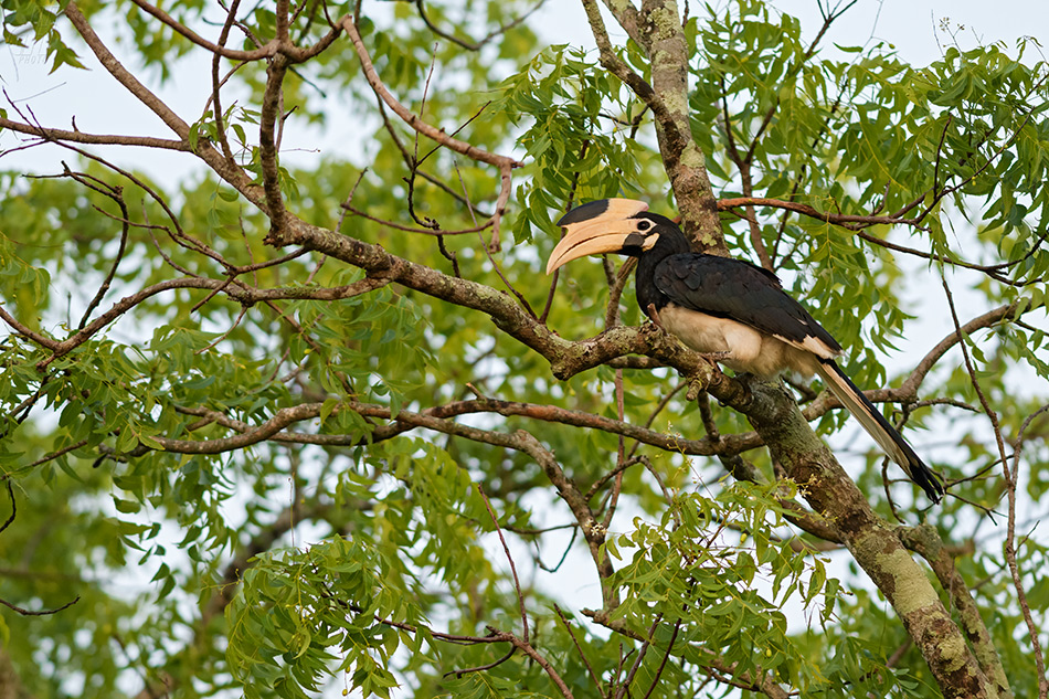
<path fill-rule="evenodd" d="M 680 253 L 656 265 L 653 280 L 684 308 L 738 320 L 792 345 L 815 337 L 831 352 L 841 351 L 837 340 L 783 290 L 776 275 L 749 262 Z"/>

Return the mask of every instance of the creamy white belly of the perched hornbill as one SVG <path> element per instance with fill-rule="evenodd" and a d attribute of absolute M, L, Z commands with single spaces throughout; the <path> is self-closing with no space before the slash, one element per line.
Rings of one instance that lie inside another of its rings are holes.
<path fill-rule="evenodd" d="M 727 352 L 718 361 L 735 371 L 771 379 L 792 370 L 806 377 L 816 371 L 816 357 L 738 320 L 708 316 L 670 304 L 659 311 L 659 322 L 697 352 Z"/>

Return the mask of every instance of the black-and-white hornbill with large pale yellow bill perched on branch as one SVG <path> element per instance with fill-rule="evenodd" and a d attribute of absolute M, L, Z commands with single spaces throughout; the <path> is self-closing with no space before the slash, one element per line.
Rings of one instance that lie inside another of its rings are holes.
<path fill-rule="evenodd" d="M 631 199 L 601 199 L 568 212 L 564 237 L 547 274 L 576 257 L 637 258 L 637 304 L 685 345 L 738 372 L 772 379 L 782 371 L 819 374 L 838 401 L 933 502 L 943 484 L 834 358 L 841 346 L 780 285 L 749 262 L 691 252 L 671 220 Z"/>

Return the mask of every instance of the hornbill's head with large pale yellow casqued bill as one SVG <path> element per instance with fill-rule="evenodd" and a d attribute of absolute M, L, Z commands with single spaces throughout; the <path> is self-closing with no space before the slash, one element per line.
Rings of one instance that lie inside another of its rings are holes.
<path fill-rule="evenodd" d="M 564 214 L 558 225 L 564 237 L 547 262 L 547 274 L 584 255 L 619 253 L 638 256 L 680 230 L 672 221 L 648 212 L 648 204 L 633 199 L 598 199 Z M 684 237 L 684 236 L 682 236 Z"/>

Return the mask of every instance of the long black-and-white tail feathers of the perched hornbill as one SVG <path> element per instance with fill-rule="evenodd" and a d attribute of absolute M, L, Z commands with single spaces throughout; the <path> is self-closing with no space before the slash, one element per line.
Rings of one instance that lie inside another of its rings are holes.
<path fill-rule="evenodd" d="M 943 497 L 943 481 L 914 453 L 902 435 L 896 431 L 884 415 L 877 410 L 863 392 L 845 375 L 845 372 L 833 359 L 819 359 L 816 362 L 816 373 L 830 389 L 830 392 L 841 401 L 841 404 L 863 425 L 875 442 L 884 449 L 886 454 L 903 468 L 911 480 L 921 486 L 929 499 L 939 502 Z"/>

